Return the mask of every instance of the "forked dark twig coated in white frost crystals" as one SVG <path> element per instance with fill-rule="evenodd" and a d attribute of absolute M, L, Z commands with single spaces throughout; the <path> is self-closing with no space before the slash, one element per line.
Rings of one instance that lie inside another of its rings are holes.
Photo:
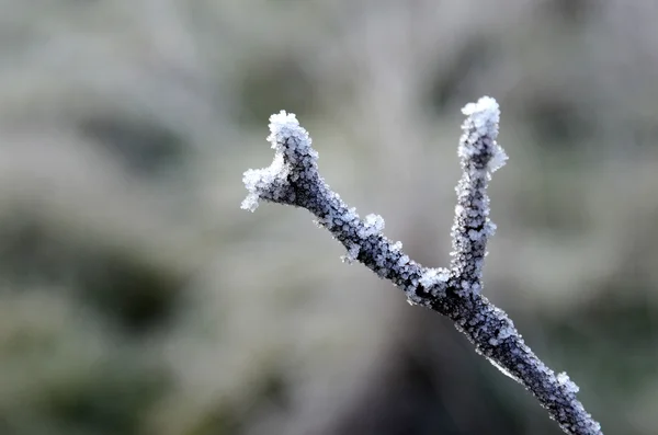
<path fill-rule="evenodd" d="M 496 142 L 500 111 L 494 99 L 484 96 L 462 112 L 466 115 L 458 147 L 463 174 L 456 187 L 450 268 L 420 265 L 402 252 L 400 242 L 383 234 L 381 216 L 361 219 L 349 208 L 318 173 L 318 153 L 294 114 L 270 117 L 268 140 L 274 161 L 269 168 L 245 172 L 249 194 L 242 208 L 256 210 L 259 199 L 306 208 L 345 247 L 344 261 L 363 263 L 402 289 L 410 304 L 452 319 L 476 352 L 531 391 L 565 433 L 602 435 L 600 424 L 576 398 L 578 387 L 567 374 L 555 375 L 546 367 L 504 311 L 480 293 L 487 240 L 496 228 L 489 220 L 487 183 L 507 156 Z"/>

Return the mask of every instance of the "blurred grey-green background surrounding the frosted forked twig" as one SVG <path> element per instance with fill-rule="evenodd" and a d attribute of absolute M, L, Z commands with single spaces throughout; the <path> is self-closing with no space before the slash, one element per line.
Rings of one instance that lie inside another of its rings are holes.
<path fill-rule="evenodd" d="M 0 0 L 0 434 L 561 433 L 302 209 L 296 113 L 446 265 L 460 108 L 501 104 L 485 294 L 606 434 L 658 433 L 658 3 Z"/>

